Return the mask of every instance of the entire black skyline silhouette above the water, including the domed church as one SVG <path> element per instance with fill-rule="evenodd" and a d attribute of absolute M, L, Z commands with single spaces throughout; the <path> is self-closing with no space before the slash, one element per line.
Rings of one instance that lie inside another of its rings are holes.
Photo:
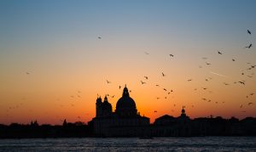
<path fill-rule="evenodd" d="M 85 137 L 198 137 L 198 136 L 256 136 L 256 118 L 235 117 L 224 119 L 221 116 L 190 119 L 185 107 L 181 115 L 162 115 L 153 124 L 149 118 L 140 115 L 136 103 L 131 99 L 125 86 L 122 97 L 117 101 L 116 110 L 105 96 L 96 99 L 96 117 L 86 125 L 82 121 L 60 125 L 0 124 L 0 138 L 85 138 Z"/>

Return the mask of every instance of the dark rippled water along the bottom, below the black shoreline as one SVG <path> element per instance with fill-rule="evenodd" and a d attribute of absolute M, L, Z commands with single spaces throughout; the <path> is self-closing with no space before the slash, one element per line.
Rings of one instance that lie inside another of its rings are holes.
<path fill-rule="evenodd" d="M 0 139 L 0 151 L 256 151 L 256 137 Z"/>

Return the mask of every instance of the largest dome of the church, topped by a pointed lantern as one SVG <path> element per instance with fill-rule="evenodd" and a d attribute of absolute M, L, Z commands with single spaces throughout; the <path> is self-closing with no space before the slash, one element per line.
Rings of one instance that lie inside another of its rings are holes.
<path fill-rule="evenodd" d="M 131 99 L 128 89 L 125 86 L 123 96 L 118 100 L 116 104 L 116 113 L 120 116 L 134 116 L 137 115 L 136 104 Z"/>

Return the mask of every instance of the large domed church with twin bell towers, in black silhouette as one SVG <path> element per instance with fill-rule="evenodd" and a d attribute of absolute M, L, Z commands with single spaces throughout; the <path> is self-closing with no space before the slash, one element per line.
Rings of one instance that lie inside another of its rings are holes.
<path fill-rule="evenodd" d="M 125 85 L 122 97 L 113 112 L 108 97 L 96 99 L 96 117 L 90 121 L 98 137 L 136 137 L 148 134 L 149 118 L 137 112 L 136 103 L 131 99 Z"/>

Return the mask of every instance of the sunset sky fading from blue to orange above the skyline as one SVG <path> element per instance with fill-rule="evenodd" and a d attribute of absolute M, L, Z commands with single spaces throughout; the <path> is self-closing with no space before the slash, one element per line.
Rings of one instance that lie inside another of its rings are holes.
<path fill-rule="evenodd" d="M 183 106 L 255 117 L 255 14 L 253 0 L 2 0 L 0 123 L 87 122 L 125 84 L 151 122 Z"/>

